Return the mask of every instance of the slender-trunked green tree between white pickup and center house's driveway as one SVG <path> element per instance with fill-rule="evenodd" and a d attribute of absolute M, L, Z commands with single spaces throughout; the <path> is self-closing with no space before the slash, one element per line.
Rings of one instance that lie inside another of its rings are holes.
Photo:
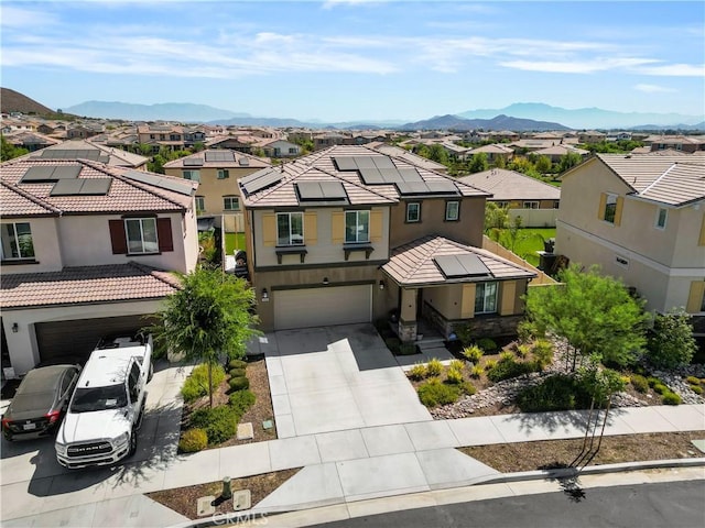
<path fill-rule="evenodd" d="M 247 341 L 258 333 L 257 316 L 250 312 L 254 293 L 246 280 L 218 270 L 196 268 L 178 277 L 181 289 L 164 300 L 158 322 L 148 330 L 169 350 L 208 364 L 213 407 L 213 365 L 221 354 L 243 358 Z"/>

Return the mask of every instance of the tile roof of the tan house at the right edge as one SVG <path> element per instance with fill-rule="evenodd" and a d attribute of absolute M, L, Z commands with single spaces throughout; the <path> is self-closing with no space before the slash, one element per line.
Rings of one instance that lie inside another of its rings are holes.
<path fill-rule="evenodd" d="M 598 154 L 597 160 L 633 189 L 632 196 L 670 206 L 705 199 L 705 157 Z"/>

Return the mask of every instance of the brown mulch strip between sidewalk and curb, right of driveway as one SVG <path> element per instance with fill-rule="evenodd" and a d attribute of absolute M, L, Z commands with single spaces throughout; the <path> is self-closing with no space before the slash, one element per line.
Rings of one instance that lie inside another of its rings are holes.
<path fill-rule="evenodd" d="M 705 457 L 691 440 L 705 438 L 705 431 L 659 432 L 605 437 L 589 465 L 644 460 Z M 589 439 L 588 439 L 589 442 Z M 597 439 L 595 439 L 595 447 Z M 583 448 L 583 439 L 542 440 L 459 448 L 459 451 L 502 473 L 567 468 Z"/>

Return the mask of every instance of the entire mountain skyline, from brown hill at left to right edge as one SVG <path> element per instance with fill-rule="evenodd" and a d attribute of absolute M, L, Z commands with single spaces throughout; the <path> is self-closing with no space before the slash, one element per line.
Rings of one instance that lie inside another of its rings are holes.
<path fill-rule="evenodd" d="M 53 110 L 9 88 L 2 88 L 2 112 L 51 114 Z M 178 121 L 221 125 L 307 127 L 314 129 L 399 129 L 399 130 L 705 130 L 705 116 L 679 113 L 616 112 L 599 108 L 565 109 L 540 102 L 518 102 L 499 109 L 467 110 L 457 114 L 404 123 L 394 120 L 359 120 L 347 122 L 301 121 L 286 118 L 254 117 L 208 105 L 166 102 L 132 105 L 126 102 L 87 101 L 62 109 L 65 116 L 127 121 Z"/>

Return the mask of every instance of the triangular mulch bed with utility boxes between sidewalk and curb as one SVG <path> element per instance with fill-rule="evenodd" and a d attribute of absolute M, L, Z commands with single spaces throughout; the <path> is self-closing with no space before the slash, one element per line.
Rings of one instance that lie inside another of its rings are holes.
<path fill-rule="evenodd" d="M 274 471 L 272 473 L 263 473 L 261 475 L 248 476 L 243 479 L 234 479 L 230 481 L 232 492 L 238 490 L 249 490 L 251 494 L 252 506 L 257 505 L 265 496 L 281 486 L 289 479 L 294 476 L 301 468 L 283 471 Z M 223 481 L 212 482 L 208 484 L 199 484 L 196 486 L 175 487 L 173 490 L 163 490 L 145 494 L 153 501 L 166 506 L 174 512 L 188 517 L 189 519 L 198 518 L 198 499 L 213 495 L 216 497 L 216 515 L 232 513 L 231 501 L 218 501 L 223 493 Z"/>

